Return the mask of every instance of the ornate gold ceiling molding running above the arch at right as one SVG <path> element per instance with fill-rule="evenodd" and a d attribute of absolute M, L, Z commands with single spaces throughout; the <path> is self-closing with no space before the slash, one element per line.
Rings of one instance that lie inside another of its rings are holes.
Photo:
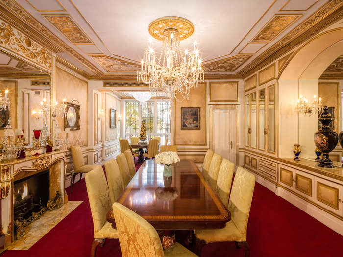
<path fill-rule="evenodd" d="M 275 61 L 280 56 L 291 51 L 294 47 L 304 43 L 309 38 L 343 18 L 342 0 L 332 0 L 321 7 L 303 23 L 299 24 L 282 39 L 261 53 L 246 65 L 239 73 L 248 77 L 257 70 Z"/>

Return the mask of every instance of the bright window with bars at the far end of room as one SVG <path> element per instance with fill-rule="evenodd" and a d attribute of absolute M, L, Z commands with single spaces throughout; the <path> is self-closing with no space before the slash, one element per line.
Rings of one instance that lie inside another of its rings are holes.
<path fill-rule="evenodd" d="M 139 136 L 142 120 L 146 121 L 147 137 L 160 137 L 160 145 L 171 138 L 171 104 L 154 100 L 141 105 L 137 101 L 125 102 L 125 138 Z"/>

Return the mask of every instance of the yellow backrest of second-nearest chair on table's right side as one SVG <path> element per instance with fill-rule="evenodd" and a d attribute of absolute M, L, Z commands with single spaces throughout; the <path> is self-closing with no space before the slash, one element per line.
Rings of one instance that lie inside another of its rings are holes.
<path fill-rule="evenodd" d="M 218 172 L 217 186 L 215 191 L 225 206 L 227 206 L 229 201 L 234 169 L 235 164 L 223 158 L 223 160 L 221 161 L 221 167 L 219 168 Z"/>

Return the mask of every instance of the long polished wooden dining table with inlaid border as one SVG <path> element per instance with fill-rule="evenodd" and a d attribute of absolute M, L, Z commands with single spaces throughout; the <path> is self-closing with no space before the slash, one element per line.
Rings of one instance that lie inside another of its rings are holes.
<path fill-rule="evenodd" d="M 164 248 L 175 241 L 174 230 L 221 229 L 230 221 L 231 213 L 193 161 L 172 164 L 172 176 L 164 176 L 163 171 L 163 165 L 146 160 L 117 202 L 142 216 L 156 230 L 164 230 Z M 112 209 L 107 221 L 116 228 Z"/>

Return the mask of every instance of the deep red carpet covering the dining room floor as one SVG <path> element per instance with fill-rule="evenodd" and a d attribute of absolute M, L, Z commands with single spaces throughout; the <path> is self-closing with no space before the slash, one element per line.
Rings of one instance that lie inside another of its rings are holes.
<path fill-rule="evenodd" d="M 139 165 L 136 165 L 139 166 Z M 83 200 L 27 251 L 6 251 L 1 257 L 88 257 L 93 222 L 84 179 L 67 188 L 69 200 Z M 251 257 L 330 257 L 342 253 L 343 236 L 256 183 L 247 230 Z M 203 247 L 202 257 L 244 257 L 234 243 Z M 106 240 L 97 257 L 121 257 L 118 240 Z"/>

